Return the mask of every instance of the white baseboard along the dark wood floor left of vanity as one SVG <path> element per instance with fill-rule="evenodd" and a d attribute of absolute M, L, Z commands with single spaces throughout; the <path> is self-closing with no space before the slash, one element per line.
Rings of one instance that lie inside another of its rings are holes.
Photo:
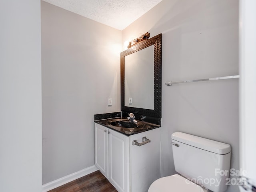
<path fill-rule="evenodd" d="M 46 183 L 46 184 L 42 185 L 42 192 L 47 192 L 56 187 L 62 186 L 68 182 L 74 181 L 80 177 L 86 176 L 86 175 L 88 175 L 94 171 L 97 171 L 97 170 L 98 170 L 98 168 L 95 165 L 93 165 L 88 168 L 82 169 L 78 172 L 75 172 L 70 175 L 59 178 L 57 180 L 54 180 L 52 182 Z"/>

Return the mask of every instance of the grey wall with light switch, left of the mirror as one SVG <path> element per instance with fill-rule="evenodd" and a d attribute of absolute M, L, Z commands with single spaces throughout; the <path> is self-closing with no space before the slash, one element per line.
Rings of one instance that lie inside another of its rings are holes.
<path fill-rule="evenodd" d="M 121 31 L 41 6 L 46 184 L 94 165 L 93 115 L 120 111 Z"/>

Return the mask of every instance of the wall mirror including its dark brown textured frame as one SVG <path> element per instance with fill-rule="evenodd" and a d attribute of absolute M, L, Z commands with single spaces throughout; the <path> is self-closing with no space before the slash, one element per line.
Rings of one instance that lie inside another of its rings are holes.
<path fill-rule="evenodd" d="M 121 110 L 161 118 L 162 34 L 121 52 Z"/>

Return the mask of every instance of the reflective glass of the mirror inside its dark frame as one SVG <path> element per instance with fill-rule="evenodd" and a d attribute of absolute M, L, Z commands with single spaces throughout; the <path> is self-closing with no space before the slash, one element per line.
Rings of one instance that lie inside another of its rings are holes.
<path fill-rule="evenodd" d="M 154 45 L 124 60 L 125 106 L 154 110 Z"/>

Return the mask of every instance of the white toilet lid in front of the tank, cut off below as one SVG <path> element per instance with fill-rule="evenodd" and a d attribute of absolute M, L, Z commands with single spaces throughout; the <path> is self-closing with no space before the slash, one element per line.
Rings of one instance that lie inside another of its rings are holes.
<path fill-rule="evenodd" d="M 175 174 L 162 177 L 154 181 L 148 192 L 206 192 L 202 187 L 194 184 L 190 180 Z"/>

